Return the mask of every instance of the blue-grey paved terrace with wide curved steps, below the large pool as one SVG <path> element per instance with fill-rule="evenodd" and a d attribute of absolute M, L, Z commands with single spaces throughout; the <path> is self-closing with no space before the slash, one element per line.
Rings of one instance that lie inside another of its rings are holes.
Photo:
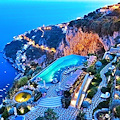
<path fill-rule="evenodd" d="M 58 96 L 57 92 L 56 92 L 56 89 L 58 89 L 59 87 L 61 89 L 65 90 L 66 82 L 68 81 L 68 78 L 70 76 L 71 76 L 71 74 L 62 74 L 61 75 L 61 85 L 59 86 L 59 84 L 54 84 L 54 85 L 50 86 L 47 91 L 46 97 L 38 100 L 35 103 L 35 107 L 33 107 L 33 109 L 30 112 L 25 114 L 25 120 L 35 120 L 38 116 L 43 116 L 44 111 L 46 111 L 48 109 L 48 107 L 45 107 L 46 105 L 52 106 L 52 107 L 49 106 L 49 108 L 54 109 L 54 111 L 59 116 L 58 120 L 75 120 L 79 110 L 77 108 L 73 108 L 73 107 L 69 107 L 68 109 L 62 108 L 61 97 Z M 48 102 L 46 102 L 46 101 L 48 101 Z M 42 104 L 41 104 L 41 102 L 42 102 Z M 54 106 L 56 104 L 58 105 L 58 107 Z"/>

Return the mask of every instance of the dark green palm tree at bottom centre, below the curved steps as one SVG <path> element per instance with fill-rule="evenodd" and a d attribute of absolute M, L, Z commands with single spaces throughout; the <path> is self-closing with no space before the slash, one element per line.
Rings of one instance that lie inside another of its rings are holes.
<path fill-rule="evenodd" d="M 53 109 L 48 108 L 47 111 L 45 111 L 45 113 L 44 113 L 44 118 L 45 118 L 45 120 L 57 120 L 58 116 L 53 111 Z"/>

